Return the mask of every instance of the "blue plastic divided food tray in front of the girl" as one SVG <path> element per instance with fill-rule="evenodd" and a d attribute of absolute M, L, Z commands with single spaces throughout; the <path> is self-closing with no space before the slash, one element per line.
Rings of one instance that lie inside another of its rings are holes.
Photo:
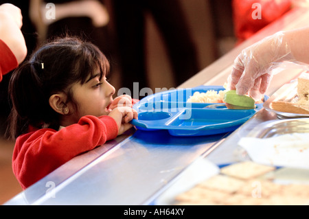
<path fill-rule="evenodd" d="M 223 91 L 225 88 L 200 86 L 148 95 L 133 106 L 139 116 L 131 123 L 141 130 L 166 129 L 174 136 L 216 135 L 236 130 L 263 107 L 255 104 L 255 109 L 231 110 L 224 104 L 218 108 L 205 108 L 217 103 L 187 102 L 196 91 L 205 93 L 209 90 Z"/>

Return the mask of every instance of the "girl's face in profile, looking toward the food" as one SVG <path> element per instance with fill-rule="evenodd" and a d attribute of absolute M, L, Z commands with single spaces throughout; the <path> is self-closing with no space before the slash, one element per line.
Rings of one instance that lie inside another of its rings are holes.
<path fill-rule="evenodd" d="M 106 81 L 105 76 L 100 80 L 100 73 L 90 78 L 84 84 L 80 82 L 71 87 L 73 99 L 78 105 L 78 110 L 73 112 L 76 122 L 84 115 L 108 115 L 109 106 L 113 102 L 115 88 Z"/>

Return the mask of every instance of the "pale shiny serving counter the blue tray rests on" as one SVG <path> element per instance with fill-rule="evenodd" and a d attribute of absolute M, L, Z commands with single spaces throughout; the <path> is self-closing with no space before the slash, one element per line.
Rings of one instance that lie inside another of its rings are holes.
<path fill-rule="evenodd" d="M 224 84 L 242 49 L 279 30 L 304 27 L 308 20 L 306 8 L 291 10 L 180 87 Z M 267 95 L 299 73 L 301 69 L 286 69 L 275 76 Z M 277 116 L 263 108 L 231 133 L 199 137 L 132 128 L 104 146 L 71 159 L 5 205 L 149 205 L 197 159 L 207 158 L 217 164 L 233 162 L 240 137 L 262 122 L 275 120 Z"/>

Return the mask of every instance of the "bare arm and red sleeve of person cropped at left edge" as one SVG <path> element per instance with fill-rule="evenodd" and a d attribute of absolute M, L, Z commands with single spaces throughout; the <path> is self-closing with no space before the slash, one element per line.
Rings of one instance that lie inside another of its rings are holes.
<path fill-rule="evenodd" d="M 19 8 L 10 3 L 0 5 L 0 82 L 3 75 L 18 67 L 27 55 L 22 25 Z"/>

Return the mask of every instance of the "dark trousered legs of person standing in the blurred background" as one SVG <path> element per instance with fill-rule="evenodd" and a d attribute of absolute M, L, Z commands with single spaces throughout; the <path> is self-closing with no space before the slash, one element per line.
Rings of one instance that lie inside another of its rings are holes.
<path fill-rule="evenodd" d="M 122 87 L 133 93 L 149 87 L 146 68 L 145 21 L 152 15 L 168 51 L 176 86 L 198 72 L 196 49 L 179 0 L 114 0 L 115 30 L 122 68 Z"/>

